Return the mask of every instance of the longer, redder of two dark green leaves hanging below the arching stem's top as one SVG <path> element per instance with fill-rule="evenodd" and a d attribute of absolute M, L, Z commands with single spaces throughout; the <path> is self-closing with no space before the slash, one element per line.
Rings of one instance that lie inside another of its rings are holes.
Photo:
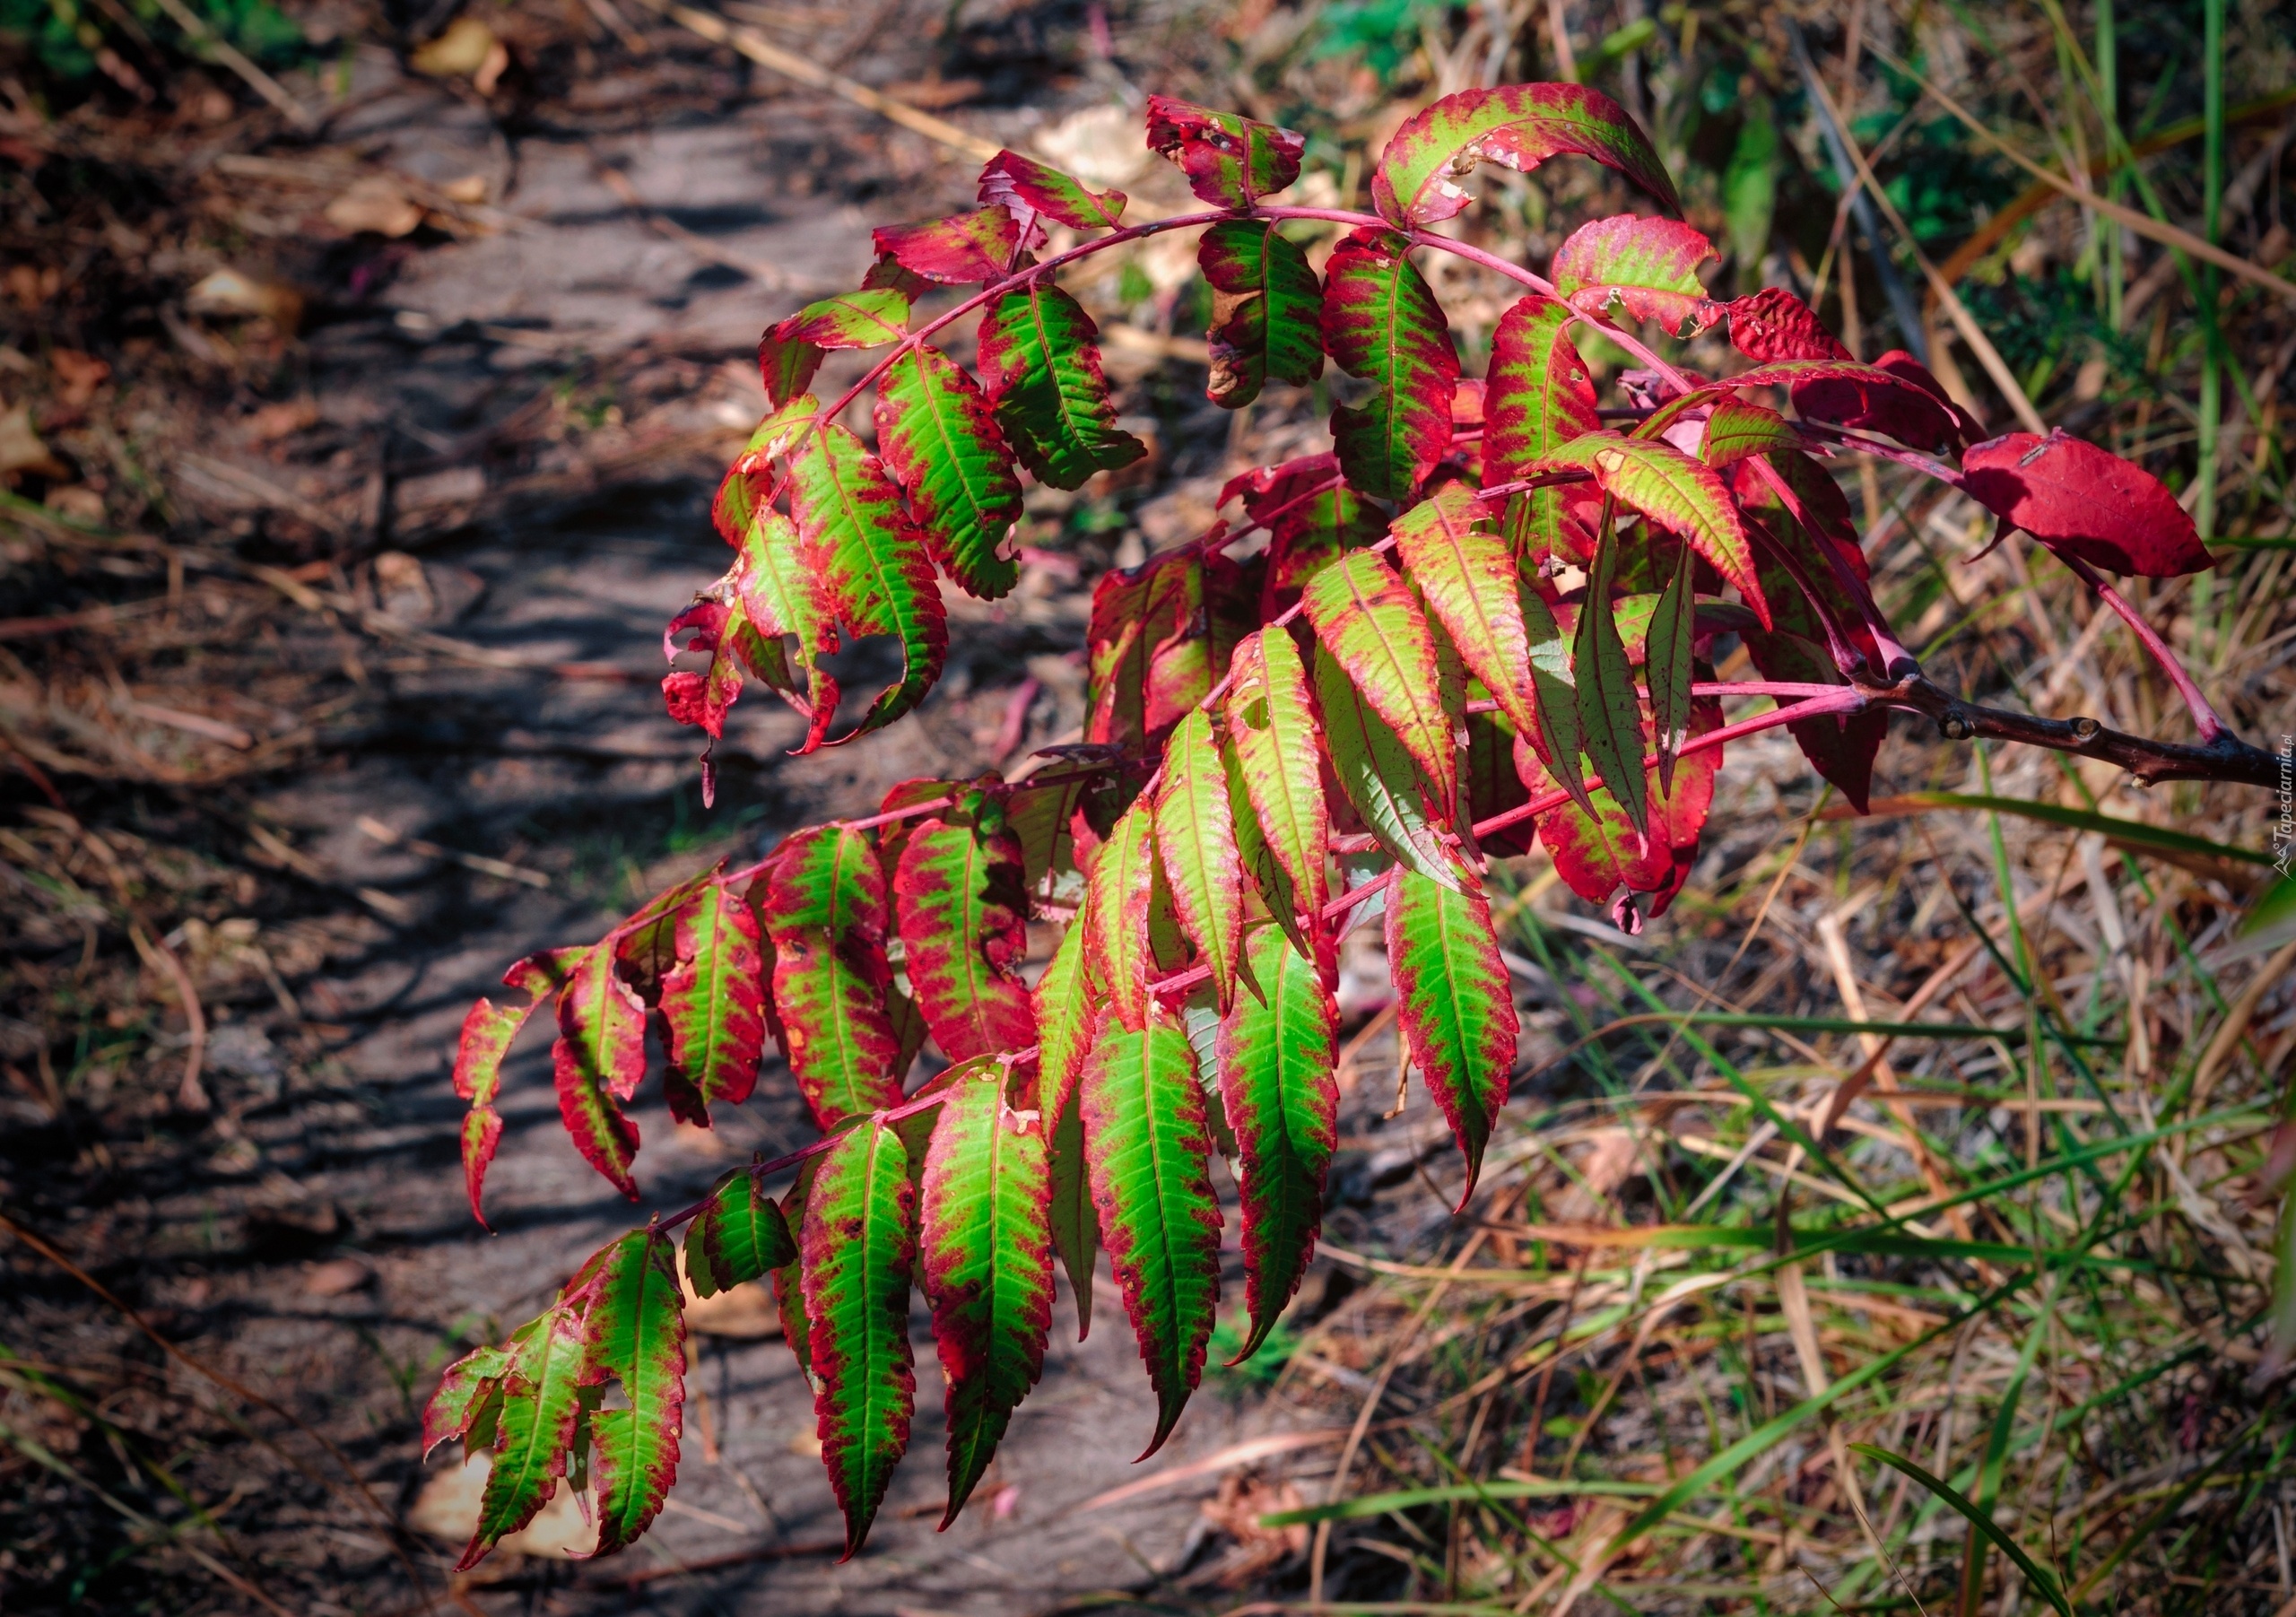
<path fill-rule="evenodd" d="M 1332 411 L 1339 466 L 1362 494 L 1407 501 L 1451 448 L 1458 351 L 1451 324 L 1389 230 L 1341 237 L 1322 283 L 1322 347 L 1373 384 L 1362 404 Z"/>

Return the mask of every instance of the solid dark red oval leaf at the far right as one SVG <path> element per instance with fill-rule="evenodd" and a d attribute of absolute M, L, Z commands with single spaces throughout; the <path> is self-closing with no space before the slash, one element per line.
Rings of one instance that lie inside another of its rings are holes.
<path fill-rule="evenodd" d="M 2174 579 L 2213 565 L 2193 517 L 2156 475 L 2064 427 L 1979 443 L 1961 457 L 1961 487 L 2002 524 L 2094 567 Z"/>

